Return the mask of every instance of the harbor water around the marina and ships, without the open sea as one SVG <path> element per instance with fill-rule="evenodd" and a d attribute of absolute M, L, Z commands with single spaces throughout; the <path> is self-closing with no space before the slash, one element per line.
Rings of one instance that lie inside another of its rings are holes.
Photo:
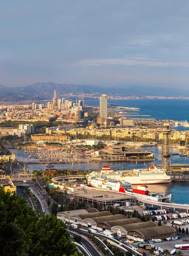
<path fill-rule="evenodd" d="M 153 152 L 154 156 L 157 157 L 157 161 L 155 162 L 156 165 L 160 164 L 160 153 L 161 147 L 160 146 L 153 146 L 153 147 L 145 147 L 145 150 L 149 150 Z M 11 149 L 12 152 L 15 153 L 17 160 L 29 163 L 29 167 L 27 168 L 30 172 L 34 169 L 40 170 L 45 169 L 46 164 L 30 164 L 32 158 L 28 157 L 22 150 Z M 175 148 L 171 148 L 171 152 L 177 152 Z M 189 157 L 180 157 L 179 155 L 172 155 L 171 156 L 171 163 L 177 164 L 189 164 Z M 146 166 L 149 167 L 150 165 L 154 164 L 153 162 L 103 162 L 103 163 L 61 163 L 61 164 L 54 164 L 53 168 L 58 170 L 63 169 L 102 169 L 103 165 L 108 165 L 111 169 L 138 169 L 138 168 L 145 168 Z M 149 191 L 156 192 L 156 193 L 165 193 L 166 195 L 172 194 L 172 201 L 175 203 L 181 204 L 189 204 L 189 182 L 178 182 L 178 183 L 169 183 L 169 184 L 154 184 L 149 185 Z"/>

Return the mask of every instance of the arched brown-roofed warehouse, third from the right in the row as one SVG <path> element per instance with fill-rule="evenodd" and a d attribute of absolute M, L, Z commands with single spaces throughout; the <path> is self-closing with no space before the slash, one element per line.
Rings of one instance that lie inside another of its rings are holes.
<path fill-rule="evenodd" d="M 121 215 L 121 214 L 118 214 L 118 215 Z M 124 216 L 124 215 L 122 215 L 122 216 Z M 138 218 L 128 218 L 127 219 L 126 217 L 122 218 L 122 219 L 121 218 L 115 219 L 115 220 L 106 219 L 106 221 L 99 222 L 97 224 L 97 227 L 102 228 L 102 230 L 112 230 L 112 227 L 115 227 L 115 226 L 122 227 L 123 225 L 126 225 L 126 224 L 132 224 L 132 223 L 138 223 L 138 222 L 142 222 L 142 221 Z M 117 233 L 117 231 L 115 233 Z"/>

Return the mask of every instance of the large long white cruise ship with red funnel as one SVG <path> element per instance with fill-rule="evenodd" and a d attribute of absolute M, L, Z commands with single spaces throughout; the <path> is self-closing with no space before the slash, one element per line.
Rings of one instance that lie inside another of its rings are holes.
<path fill-rule="evenodd" d="M 120 180 L 121 182 L 131 183 L 132 185 L 170 183 L 172 181 L 172 177 L 166 175 L 164 169 L 158 169 L 156 166 L 150 166 L 149 169 L 125 171 L 113 171 L 108 166 L 103 166 L 101 171 L 94 171 L 86 175 L 87 184 L 90 185 L 92 179 L 96 177 Z"/>

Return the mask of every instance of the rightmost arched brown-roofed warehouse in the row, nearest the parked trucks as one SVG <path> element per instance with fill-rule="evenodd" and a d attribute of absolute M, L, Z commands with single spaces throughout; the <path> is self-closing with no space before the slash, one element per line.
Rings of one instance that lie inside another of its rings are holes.
<path fill-rule="evenodd" d="M 149 222 L 149 221 L 148 221 Z M 146 227 L 138 230 L 130 230 L 127 234 L 128 238 L 135 241 L 149 241 L 152 239 L 165 239 L 166 237 L 175 236 L 176 231 L 173 227 L 164 225 L 156 227 Z"/>

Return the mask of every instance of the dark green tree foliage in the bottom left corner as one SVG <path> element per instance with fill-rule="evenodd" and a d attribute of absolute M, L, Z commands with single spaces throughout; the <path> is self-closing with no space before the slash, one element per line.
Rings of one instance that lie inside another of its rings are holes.
<path fill-rule="evenodd" d="M 40 218 L 26 198 L 0 187 L 0 255 L 74 256 L 74 243 L 63 221 L 54 215 Z"/>

